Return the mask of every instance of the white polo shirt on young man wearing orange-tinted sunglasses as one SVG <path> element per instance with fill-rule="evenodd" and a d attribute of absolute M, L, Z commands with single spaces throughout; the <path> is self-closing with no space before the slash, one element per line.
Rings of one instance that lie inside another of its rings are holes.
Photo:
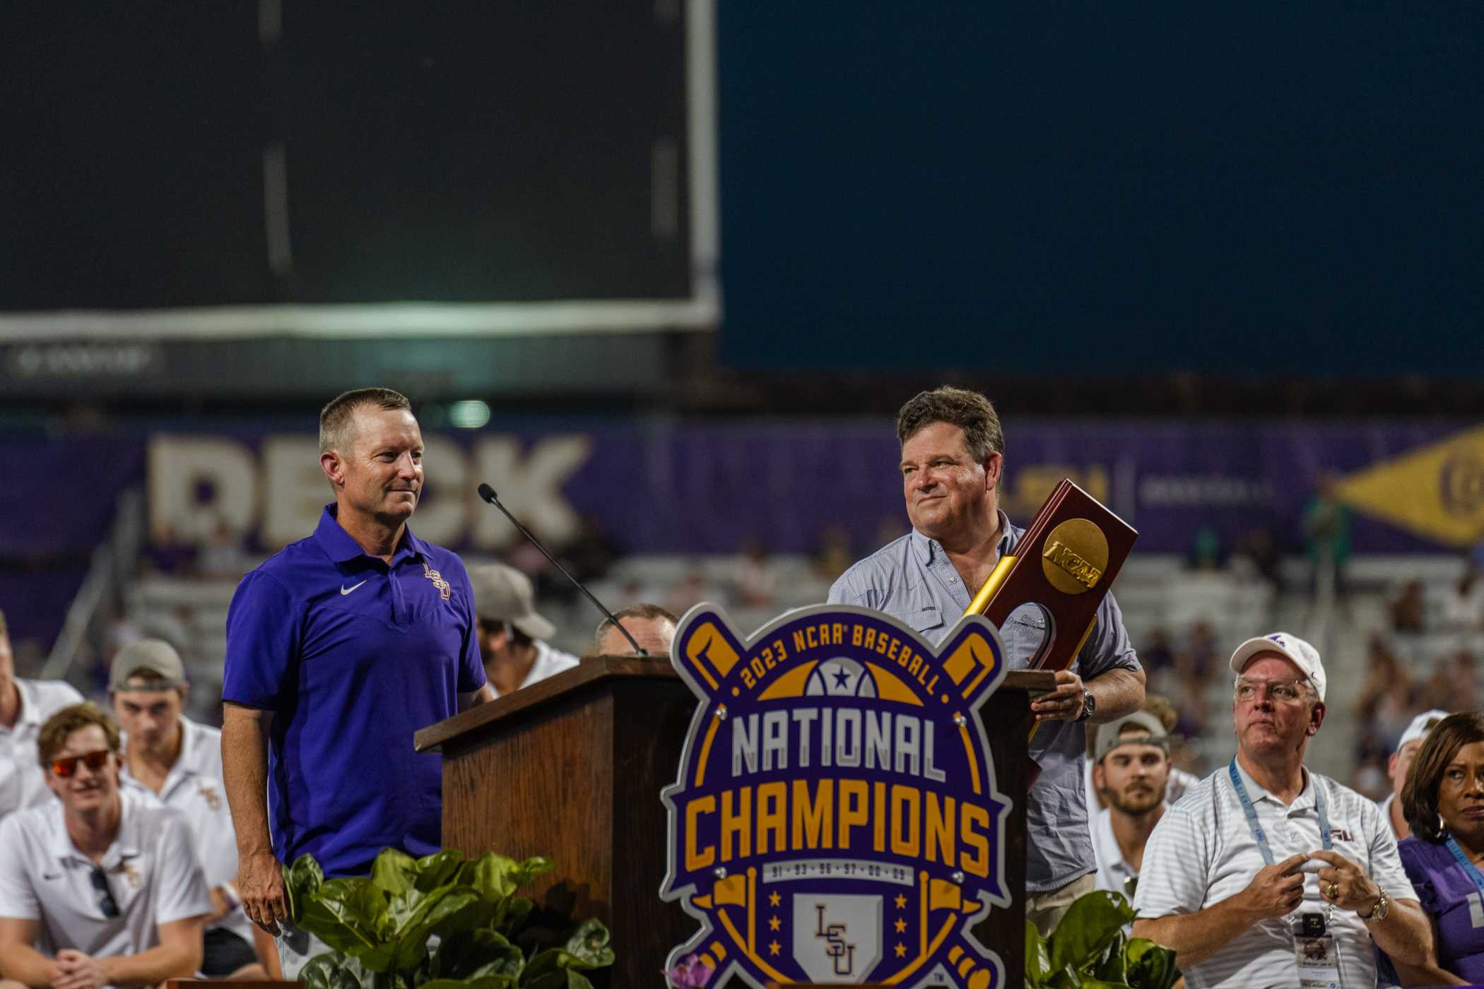
<path fill-rule="evenodd" d="M 98 863 L 119 916 L 105 918 L 93 863 L 73 847 L 62 804 L 31 807 L 0 821 L 0 916 L 40 921 L 39 947 L 92 958 L 138 955 L 160 943 L 160 924 L 211 913 L 186 817 L 119 789 L 119 833 Z"/>

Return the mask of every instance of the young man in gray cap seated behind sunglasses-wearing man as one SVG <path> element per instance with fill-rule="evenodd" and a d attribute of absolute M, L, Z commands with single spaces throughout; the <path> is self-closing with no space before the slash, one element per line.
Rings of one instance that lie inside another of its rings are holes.
<path fill-rule="evenodd" d="M 119 784 L 184 813 L 211 888 L 202 974 L 278 977 L 273 939 L 248 919 L 237 896 L 237 836 L 221 783 L 221 731 L 181 712 L 190 692 L 186 667 L 163 639 L 119 649 L 108 698 L 123 728 Z"/>

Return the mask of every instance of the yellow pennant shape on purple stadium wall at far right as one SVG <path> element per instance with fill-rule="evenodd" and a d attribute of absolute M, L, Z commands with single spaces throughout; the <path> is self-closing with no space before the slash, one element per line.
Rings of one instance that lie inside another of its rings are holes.
<path fill-rule="evenodd" d="M 1484 427 L 1349 474 L 1337 494 L 1425 538 L 1472 546 L 1484 537 Z"/>

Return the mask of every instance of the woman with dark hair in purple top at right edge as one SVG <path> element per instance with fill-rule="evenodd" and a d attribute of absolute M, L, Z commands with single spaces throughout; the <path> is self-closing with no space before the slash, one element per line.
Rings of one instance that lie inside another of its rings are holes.
<path fill-rule="evenodd" d="M 1484 713 L 1448 715 L 1422 743 L 1401 792 L 1413 836 L 1396 850 L 1432 919 L 1429 965 L 1402 985 L 1484 982 Z"/>

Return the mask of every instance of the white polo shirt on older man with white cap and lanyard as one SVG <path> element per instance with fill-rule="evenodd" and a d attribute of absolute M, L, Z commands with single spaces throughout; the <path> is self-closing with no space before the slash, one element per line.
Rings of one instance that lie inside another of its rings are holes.
<path fill-rule="evenodd" d="M 1334 851 L 1356 863 L 1393 900 L 1417 894 L 1396 856 L 1396 838 L 1376 804 L 1347 786 L 1304 770 L 1304 787 L 1285 805 L 1258 786 L 1241 767 L 1238 773 L 1267 836 L 1273 861 L 1322 848 L 1315 787 L 1324 789 Z M 1201 780 L 1178 804 L 1165 811 L 1144 847 L 1134 909 L 1140 918 L 1195 913 L 1226 900 L 1252 881 L 1266 863 L 1247 824 L 1227 767 Z M 1376 985 L 1371 936 L 1355 910 L 1327 912 L 1319 879 L 1307 875 L 1304 899 L 1284 918 L 1261 921 L 1227 942 L 1199 965 L 1184 968 L 1190 989 L 1206 986 L 1297 986 L 1293 927 L 1298 915 L 1331 918 L 1340 953 L 1340 983 L 1346 989 Z"/>

